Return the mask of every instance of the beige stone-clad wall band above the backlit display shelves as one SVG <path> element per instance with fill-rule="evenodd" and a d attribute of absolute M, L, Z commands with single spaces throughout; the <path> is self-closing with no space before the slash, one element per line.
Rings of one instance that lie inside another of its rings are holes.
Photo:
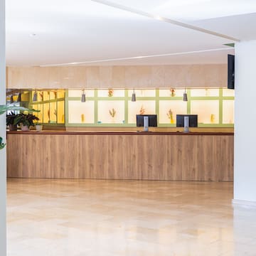
<path fill-rule="evenodd" d="M 225 87 L 227 65 L 8 67 L 8 88 Z"/>

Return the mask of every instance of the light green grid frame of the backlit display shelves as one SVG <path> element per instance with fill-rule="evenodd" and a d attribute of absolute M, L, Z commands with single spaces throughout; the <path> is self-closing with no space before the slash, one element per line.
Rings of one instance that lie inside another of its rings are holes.
<path fill-rule="evenodd" d="M 206 89 L 206 88 L 198 88 L 198 89 Z M 211 89 L 211 88 L 208 88 Z M 216 88 L 215 88 L 216 89 Z M 62 89 L 60 89 L 62 90 Z M 47 124 L 50 126 L 65 126 L 65 127 L 136 127 L 136 124 L 132 124 L 132 123 L 128 123 L 128 118 L 129 118 L 129 101 L 131 100 L 131 98 L 129 97 L 129 90 L 131 89 L 123 89 L 124 90 L 124 97 L 98 97 L 98 91 L 99 90 L 104 90 L 104 89 L 93 89 L 94 90 L 94 97 L 86 97 L 87 100 L 91 100 L 94 102 L 94 108 L 95 108 L 95 112 L 94 112 L 94 119 L 95 122 L 94 123 L 70 123 L 68 120 L 68 102 L 69 101 L 80 101 L 81 97 L 69 97 L 68 95 L 68 90 L 65 90 L 65 97 L 61 97 L 61 98 L 57 98 L 54 100 L 45 100 L 42 102 L 32 102 L 32 92 L 30 95 L 30 99 L 31 101 L 29 102 L 29 107 L 31 107 L 32 105 L 41 105 L 41 104 L 50 104 L 50 102 L 60 102 L 60 101 L 64 101 L 64 116 L 65 116 L 65 123 L 42 123 L 42 124 Z M 143 90 L 143 89 L 141 89 Z M 169 97 L 161 97 L 160 95 L 160 90 L 161 89 L 151 89 L 151 90 L 155 90 L 155 96 L 154 97 L 137 97 L 137 100 L 151 100 L 155 102 L 155 112 L 156 114 L 159 116 L 159 111 L 160 111 L 160 107 L 159 107 L 159 102 L 161 100 L 170 100 L 170 101 L 182 101 L 183 97 L 181 96 L 174 96 L 171 97 L 171 95 Z M 164 89 L 166 90 L 166 89 Z M 191 96 L 191 90 L 193 90 L 193 88 L 188 88 L 186 89 L 186 92 L 188 94 L 188 102 L 187 102 L 187 107 L 186 107 L 186 114 L 191 114 L 191 102 L 193 102 L 193 100 L 196 101 L 200 101 L 200 100 L 218 100 L 218 105 L 219 105 L 219 122 L 215 123 L 215 124 L 202 124 L 202 123 L 198 123 L 198 127 L 234 127 L 234 124 L 223 124 L 223 101 L 224 100 L 234 100 L 235 97 L 232 96 L 223 96 L 223 88 L 218 88 L 219 92 L 218 95 L 219 96 Z M 197 89 L 196 89 L 197 90 Z M 99 101 L 123 101 L 124 102 L 124 123 L 98 123 L 97 119 L 98 119 L 98 102 Z M 58 104 L 56 104 L 56 108 L 57 108 L 57 112 L 58 112 Z M 176 124 L 171 124 L 171 123 L 159 123 L 159 119 L 158 119 L 158 127 L 176 127 Z"/>

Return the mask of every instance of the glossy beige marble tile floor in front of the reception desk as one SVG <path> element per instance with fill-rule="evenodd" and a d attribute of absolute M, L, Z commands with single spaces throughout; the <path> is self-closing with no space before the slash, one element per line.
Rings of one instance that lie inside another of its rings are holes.
<path fill-rule="evenodd" d="M 233 183 L 8 180 L 8 256 L 256 255 Z"/>

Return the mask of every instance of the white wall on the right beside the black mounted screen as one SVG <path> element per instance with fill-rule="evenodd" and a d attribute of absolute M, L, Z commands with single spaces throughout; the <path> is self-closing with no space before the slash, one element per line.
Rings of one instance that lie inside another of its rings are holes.
<path fill-rule="evenodd" d="M 256 203 L 256 41 L 235 44 L 234 199 Z"/>

